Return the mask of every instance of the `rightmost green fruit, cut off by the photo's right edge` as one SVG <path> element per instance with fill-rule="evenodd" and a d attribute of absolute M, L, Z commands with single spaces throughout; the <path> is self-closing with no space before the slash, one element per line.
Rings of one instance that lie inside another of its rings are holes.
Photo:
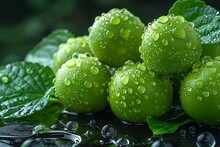
<path fill-rule="evenodd" d="M 208 59 L 208 60 L 207 60 Z M 206 125 L 220 125 L 220 57 L 204 57 L 182 82 L 180 100 L 185 112 Z"/>

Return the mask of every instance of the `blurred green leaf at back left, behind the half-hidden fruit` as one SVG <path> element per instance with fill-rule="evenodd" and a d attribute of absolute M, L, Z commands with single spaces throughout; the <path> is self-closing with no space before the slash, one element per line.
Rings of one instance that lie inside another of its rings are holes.
<path fill-rule="evenodd" d="M 65 43 L 70 37 L 73 37 L 73 35 L 68 30 L 53 31 L 27 54 L 25 60 L 52 68 L 53 54 L 58 51 L 59 45 Z"/>

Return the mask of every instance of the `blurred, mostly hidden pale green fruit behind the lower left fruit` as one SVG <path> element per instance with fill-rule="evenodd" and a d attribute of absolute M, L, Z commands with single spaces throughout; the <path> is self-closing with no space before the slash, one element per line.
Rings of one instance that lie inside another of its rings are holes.
<path fill-rule="evenodd" d="M 72 58 L 74 53 L 90 53 L 91 50 L 88 44 L 88 36 L 82 36 L 77 38 L 70 38 L 66 43 L 59 46 L 58 52 L 54 54 L 54 66 L 53 71 L 57 70 L 64 64 L 67 60 Z"/>

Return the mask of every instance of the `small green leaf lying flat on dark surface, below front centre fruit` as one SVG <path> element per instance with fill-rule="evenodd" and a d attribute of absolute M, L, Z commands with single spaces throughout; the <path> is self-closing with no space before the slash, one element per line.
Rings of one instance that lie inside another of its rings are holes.
<path fill-rule="evenodd" d="M 179 126 L 192 122 L 186 118 L 185 113 L 180 113 L 176 117 L 167 120 L 159 120 L 152 117 L 147 118 L 147 123 L 154 135 L 162 135 L 166 133 L 174 133 Z"/>

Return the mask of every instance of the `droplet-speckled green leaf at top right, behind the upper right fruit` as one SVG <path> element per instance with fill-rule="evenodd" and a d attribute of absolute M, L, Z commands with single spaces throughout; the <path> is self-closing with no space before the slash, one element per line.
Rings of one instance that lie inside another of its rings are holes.
<path fill-rule="evenodd" d="M 201 35 L 202 44 L 220 42 L 219 11 L 201 0 L 178 0 L 169 9 L 169 14 L 182 15 L 193 22 Z"/>

